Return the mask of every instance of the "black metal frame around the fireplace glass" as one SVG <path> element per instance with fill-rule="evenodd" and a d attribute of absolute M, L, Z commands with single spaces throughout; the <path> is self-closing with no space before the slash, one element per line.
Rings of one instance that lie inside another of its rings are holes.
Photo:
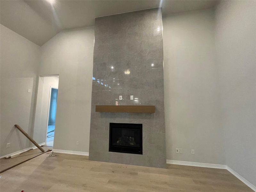
<path fill-rule="evenodd" d="M 138 129 L 140 130 L 140 147 L 128 147 L 128 146 L 113 146 L 111 145 L 112 140 L 112 128 L 115 125 L 123 125 L 126 129 Z M 138 127 L 140 126 L 140 127 Z M 134 123 L 109 123 L 109 152 L 118 152 L 118 153 L 132 153 L 142 155 L 142 124 Z"/>

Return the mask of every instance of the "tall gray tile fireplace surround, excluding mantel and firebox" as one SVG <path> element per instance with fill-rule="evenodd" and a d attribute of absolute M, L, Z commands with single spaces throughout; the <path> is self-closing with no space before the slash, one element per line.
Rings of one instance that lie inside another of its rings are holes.
<path fill-rule="evenodd" d="M 156 112 L 95 112 L 95 105 L 116 105 L 116 101 L 154 105 Z M 109 123 L 142 124 L 143 155 L 109 152 Z M 161 9 L 95 19 L 89 159 L 166 167 Z"/>

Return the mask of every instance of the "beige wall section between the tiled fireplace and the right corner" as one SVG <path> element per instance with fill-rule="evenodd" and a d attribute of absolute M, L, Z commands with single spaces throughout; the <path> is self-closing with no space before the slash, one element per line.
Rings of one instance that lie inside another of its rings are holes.
<path fill-rule="evenodd" d="M 164 17 L 163 41 L 167 159 L 225 164 L 214 11 Z"/>

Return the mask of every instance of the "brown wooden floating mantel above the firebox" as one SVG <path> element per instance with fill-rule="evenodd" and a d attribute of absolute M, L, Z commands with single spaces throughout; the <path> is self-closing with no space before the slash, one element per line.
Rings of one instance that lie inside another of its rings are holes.
<path fill-rule="evenodd" d="M 107 113 L 155 113 L 151 105 L 96 105 L 96 112 Z"/>

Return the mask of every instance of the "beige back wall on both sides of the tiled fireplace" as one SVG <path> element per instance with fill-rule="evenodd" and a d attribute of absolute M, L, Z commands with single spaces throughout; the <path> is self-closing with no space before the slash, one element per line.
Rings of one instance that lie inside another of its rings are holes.
<path fill-rule="evenodd" d="M 163 22 L 167 159 L 225 164 L 214 12 L 175 14 Z M 89 152 L 93 35 L 93 28 L 63 31 L 42 46 L 40 75 L 60 74 L 55 149 Z"/>

